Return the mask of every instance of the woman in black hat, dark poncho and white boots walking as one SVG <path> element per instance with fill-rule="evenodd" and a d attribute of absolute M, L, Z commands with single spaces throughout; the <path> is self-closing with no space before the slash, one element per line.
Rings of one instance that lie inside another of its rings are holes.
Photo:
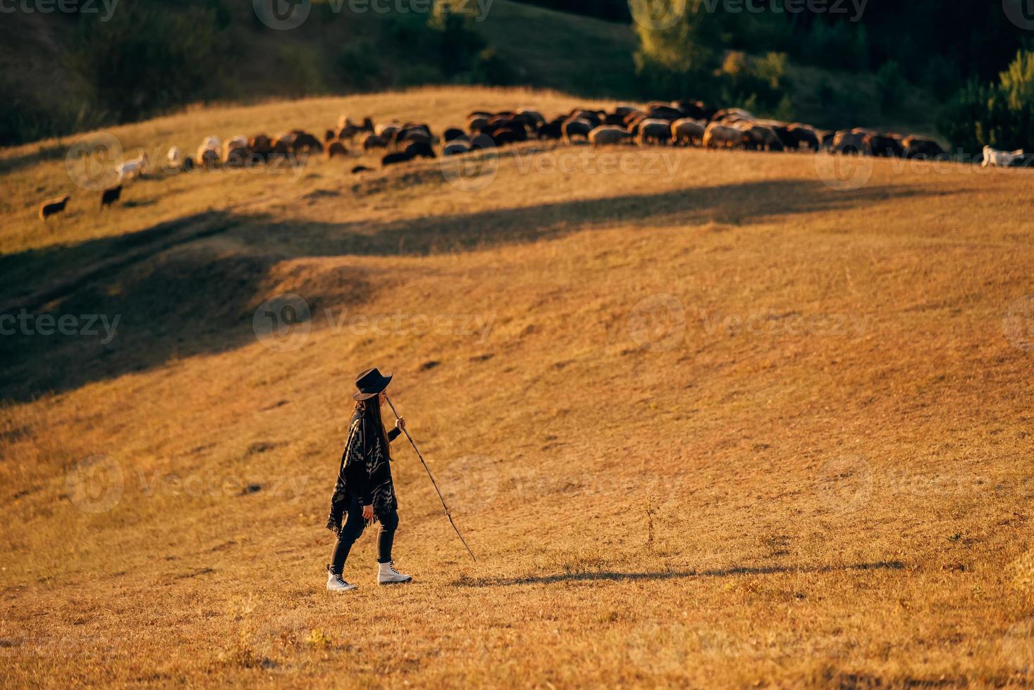
<path fill-rule="evenodd" d="M 398 501 L 391 481 L 391 449 L 400 431 L 405 429 L 405 420 L 399 418 L 390 432 L 381 420 L 381 406 L 388 394 L 385 389 L 391 381 L 391 374 L 382 376 L 376 369 L 367 369 L 356 378 L 356 411 L 348 425 L 348 440 L 341 456 L 341 467 L 337 473 L 337 483 L 330 500 L 330 518 L 327 529 L 337 535 L 337 543 L 327 565 L 327 589 L 331 592 L 347 592 L 356 589 L 342 577 L 344 561 L 348 558 L 352 544 L 363 533 L 367 522 L 381 523 L 377 535 L 377 582 L 382 585 L 407 583 L 413 579 L 395 570 L 391 558 L 392 541 L 398 527 Z M 344 526 L 341 518 L 347 515 Z"/>

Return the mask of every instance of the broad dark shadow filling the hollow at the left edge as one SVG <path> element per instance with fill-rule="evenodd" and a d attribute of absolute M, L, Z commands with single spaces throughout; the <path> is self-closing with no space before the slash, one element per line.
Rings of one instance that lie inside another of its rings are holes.
<path fill-rule="evenodd" d="M 0 257 L 0 295 L 9 300 L 0 306 L 0 399 L 30 400 L 256 341 L 273 342 L 270 354 L 294 349 L 304 338 L 278 339 L 278 332 L 290 338 L 324 301 L 351 306 L 369 297 L 375 281 L 365 270 L 335 268 L 308 276 L 308 285 L 297 283 L 309 311 L 287 303 L 290 323 L 281 323 L 275 319 L 284 306 L 274 305 L 280 311 L 267 322 L 255 295 L 277 282 L 271 274 L 284 257 L 197 243 L 237 222 L 204 213 Z M 33 275 L 40 278 L 32 281 Z"/>

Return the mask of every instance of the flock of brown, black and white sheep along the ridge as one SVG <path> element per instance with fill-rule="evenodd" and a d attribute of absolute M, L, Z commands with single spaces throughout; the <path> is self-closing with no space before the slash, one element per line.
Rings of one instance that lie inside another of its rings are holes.
<path fill-rule="evenodd" d="M 357 144 L 357 137 L 361 142 Z M 374 124 L 364 118 L 357 124 L 342 116 L 337 126 L 325 132 L 323 140 L 296 129 L 275 137 L 266 134 L 233 136 L 220 142 L 208 136 L 194 156 L 184 155 L 178 147 L 166 154 L 166 171 L 195 168 L 213 169 L 267 164 L 275 159 L 296 157 L 304 160 L 322 153 L 328 158 L 349 156 L 349 147 L 361 146 L 366 153 L 384 151 L 382 166 L 415 158 L 456 156 L 473 151 L 526 142 L 562 140 L 567 145 L 582 139 L 594 148 L 619 144 L 639 146 L 697 146 L 706 149 L 744 149 L 751 151 L 829 151 L 831 153 L 900 158 L 943 158 L 947 153 L 932 138 L 855 128 L 824 131 L 801 123 L 787 123 L 754 117 L 742 108 L 718 109 L 701 101 L 651 101 L 644 106 L 617 105 L 611 111 L 576 107 L 546 120 L 539 111 L 521 107 L 515 111 L 476 111 L 466 117 L 465 127 L 450 127 L 440 137 L 431 127 L 418 122 Z M 1022 162 L 1022 150 L 1004 152 L 985 147 L 983 166 L 1010 166 Z M 357 165 L 353 173 L 370 168 Z M 148 171 L 146 154 L 121 163 L 117 185 L 103 190 L 101 210 L 119 200 L 124 182 Z M 39 217 L 47 220 L 62 213 L 70 197 L 45 201 Z"/>

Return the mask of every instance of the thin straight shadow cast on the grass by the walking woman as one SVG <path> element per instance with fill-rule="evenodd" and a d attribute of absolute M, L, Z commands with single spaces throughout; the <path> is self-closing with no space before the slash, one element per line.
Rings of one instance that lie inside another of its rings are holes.
<path fill-rule="evenodd" d="M 681 577 L 729 577 L 731 575 L 770 575 L 779 573 L 814 574 L 838 572 L 845 570 L 902 570 L 905 564 L 901 561 L 877 561 L 875 563 L 850 563 L 847 565 L 816 565 L 816 566 L 759 566 L 731 567 L 713 570 L 657 570 L 646 572 L 618 572 L 614 570 L 598 570 L 594 572 L 564 572 L 551 575 L 528 575 L 525 577 L 470 577 L 460 578 L 452 583 L 454 587 L 510 587 L 513 585 L 552 585 L 553 583 L 597 582 L 597 581 L 637 581 L 637 579 L 675 579 Z"/>

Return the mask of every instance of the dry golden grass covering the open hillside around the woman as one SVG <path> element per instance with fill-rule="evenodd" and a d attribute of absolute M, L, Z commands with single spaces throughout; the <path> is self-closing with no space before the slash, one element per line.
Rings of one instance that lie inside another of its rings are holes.
<path fill-rule="evenodd" d="M 113 133 L 524 103 L 574 101 L 422 90 Z M 39 148 L 0 154 L 5 302 L 121 321 L 107 346 L 3 339 L 6 684 L 1032 685 L 1028 171 L 875 161 L 838 191 L 803 154 L 544 174 L 587 149 L 522 147 L 477 192 L 436 161 L 320 160 L 151 178 L 44 230 L 69 183 Z M 286 292 L 307 335 L 256 337 Z M 376 587 L 367 534 L 333 596 L 323 524 L 371 365 L 480 560 L 397 443 L 416 582 Z"/>

